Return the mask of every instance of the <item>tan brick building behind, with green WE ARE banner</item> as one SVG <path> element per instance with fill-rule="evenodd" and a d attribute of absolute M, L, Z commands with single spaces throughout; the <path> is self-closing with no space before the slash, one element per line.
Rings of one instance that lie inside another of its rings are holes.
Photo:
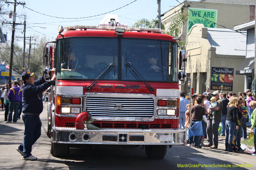
<path fill-rule="evenodd" d="M 164 13 L 162 24 L 168 28 L 177 14 L 188 13 L 188 21 L 183 25 L 181 31 L 185 35 L 195 24 L 204 24 L 204 27 L 208 28 L 224 28 L 222 26 L 225 26 L 233 29 L 235 25 L 252 20 L 255 16 L 255 0 L 201 0 L 183 1 L 181 4 L 191 11 L 179 4 Z"/>

